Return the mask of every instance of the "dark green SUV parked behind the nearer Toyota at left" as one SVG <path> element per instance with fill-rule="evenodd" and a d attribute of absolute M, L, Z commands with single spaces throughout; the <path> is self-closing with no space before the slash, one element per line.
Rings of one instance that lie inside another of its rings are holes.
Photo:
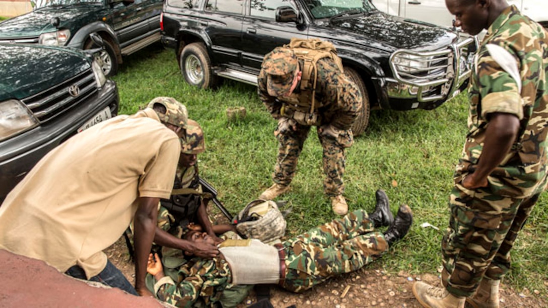
<path fill-rule="evenodd" d="M 113 76 L 122 56 L 160 39 L 162 0 L 37 0 L 34 10 L 0 22 L 0 42 L 95 48 L 105 42 L 101 68 Z"/>

